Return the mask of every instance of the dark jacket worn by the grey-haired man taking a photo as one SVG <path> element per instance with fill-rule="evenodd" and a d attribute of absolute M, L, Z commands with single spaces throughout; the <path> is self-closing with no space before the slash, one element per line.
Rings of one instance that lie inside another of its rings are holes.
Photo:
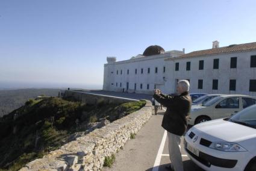
<path fill-rule="evenodd" d="M 163 128 L 172 134 L 183 135 L 187 129 L 187 117 L 192 103 L 189 92 L 184 92 L 178 96 L 154 94 L 154 98 L 167 107 L 162 122 Z"/>

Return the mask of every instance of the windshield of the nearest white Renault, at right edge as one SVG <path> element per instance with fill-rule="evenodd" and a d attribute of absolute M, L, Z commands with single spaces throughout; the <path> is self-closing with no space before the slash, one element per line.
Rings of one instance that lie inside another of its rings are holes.
<path fill-rule="evenodd" d="M 228 119 L 228 121 L 256 129 L 256 105 L 245 108 Z"/>

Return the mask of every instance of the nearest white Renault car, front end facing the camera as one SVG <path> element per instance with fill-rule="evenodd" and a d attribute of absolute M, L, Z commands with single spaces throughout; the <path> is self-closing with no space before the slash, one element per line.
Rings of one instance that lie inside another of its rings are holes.
<path fill-rule="evenodd" d="M 189 158 L 204 170 L 256 170 L 256 105 L 230 119 L 193 126 L 184 138 Z"/>

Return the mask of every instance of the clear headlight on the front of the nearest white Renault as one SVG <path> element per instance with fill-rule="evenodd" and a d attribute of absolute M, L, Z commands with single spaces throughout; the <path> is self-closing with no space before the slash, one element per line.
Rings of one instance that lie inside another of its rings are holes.
<path fill-rule="evenodd" d="M 219 151 L 228 151 L 228 152 L 242 152 L 247 151 L 240 145 L 236 143 L 211 143 L 209 148 L 216 149 Z"/>

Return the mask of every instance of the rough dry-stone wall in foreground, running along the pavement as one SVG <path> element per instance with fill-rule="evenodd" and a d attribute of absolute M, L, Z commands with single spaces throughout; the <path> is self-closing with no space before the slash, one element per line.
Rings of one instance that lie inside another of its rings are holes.
<path fill-rule="evenodd" d="M 89 134 L 76 138 L 43 158 L 31 161 L 25 170 L 100 170 L 105 157 L 119 151 L 152 116 L 150 101 L 145 107 Z"/>

